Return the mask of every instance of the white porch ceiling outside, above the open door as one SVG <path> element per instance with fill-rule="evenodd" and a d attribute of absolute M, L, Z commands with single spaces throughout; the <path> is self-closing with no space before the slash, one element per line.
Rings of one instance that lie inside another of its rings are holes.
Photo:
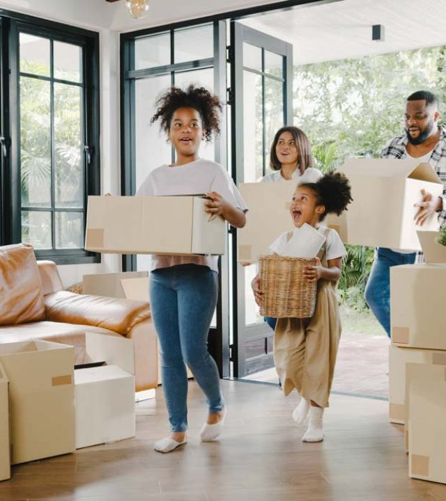
<path fill-rule="evenodd" d="M 243 19 L 293 44 L 295 65 L 446 44 L 446 0 L 341 0 Z M 371 26 L 385 40 L 371 40 Z"/>

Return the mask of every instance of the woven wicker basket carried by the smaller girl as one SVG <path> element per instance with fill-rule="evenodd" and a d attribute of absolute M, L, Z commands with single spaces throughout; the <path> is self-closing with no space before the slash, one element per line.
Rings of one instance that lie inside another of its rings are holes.
<path fill-rule="evenodd" d="M 273 318 L 309 318 L 316 307 L 317 282 L 303 276 L 314 259 L 266 255 L 259 257 L 263 304 L 260 315 Z"/>

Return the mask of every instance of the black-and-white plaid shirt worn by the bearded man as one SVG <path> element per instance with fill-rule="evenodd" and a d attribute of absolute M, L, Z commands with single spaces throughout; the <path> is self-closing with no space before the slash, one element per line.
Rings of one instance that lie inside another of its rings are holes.
<path fill-rule="evenodd" d="M 438 213 L 438 222 L 440 226 L 446 224 L 446 129 L 444 127 L 438 126 L 440 131 L 440 139 L 433 148 L 431 158 L 429 159 L 429 164 L 436 171 L 440 180 L 443 181 L 443 209 Z M 406 158 L 407 151 L 406 145 L 408 143 L 408 138 L 406 134 L 401 134 L 401 136 L 394 137 L 385 145 L 385 148 L 380 153 L 381 158 Z"/>

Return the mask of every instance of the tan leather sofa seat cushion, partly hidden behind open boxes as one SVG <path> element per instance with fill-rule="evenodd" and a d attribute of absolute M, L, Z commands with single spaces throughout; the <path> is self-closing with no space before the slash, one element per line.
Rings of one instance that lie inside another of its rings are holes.
<path fill-rule="evenodd" d="M 75 363 L 86 362 L 85 333 L 94 332 L 119 336 L 121 335 L 87 325 L 63 324 L 62 322 L 41 321 L 31 324 L 20 324 L 0 328 L 0 343 L 20 342 L 28 340 L 44 340 L 70 344 L 75 347 Z"/>

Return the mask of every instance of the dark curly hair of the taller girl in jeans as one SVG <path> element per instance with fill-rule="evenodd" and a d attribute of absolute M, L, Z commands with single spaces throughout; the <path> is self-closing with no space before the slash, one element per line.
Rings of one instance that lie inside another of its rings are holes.
<path fill-rule="evenodd" d="M 200 113 L 206 141 L 211 140 L 213 131 L 220 134 L 218 111 L 222 111 L 222 104 L 217 96 L 212 95 L 204 87 L 195 87 L 193 84 L 185 90 L 171 87 L 158 97 L 156 106 L 157 110 L 151 122 L 156 122 L 160 118 L 160 127 L 166 133 L 169 133 L 172 116 L 178 108 L 193 108 Z"/>

